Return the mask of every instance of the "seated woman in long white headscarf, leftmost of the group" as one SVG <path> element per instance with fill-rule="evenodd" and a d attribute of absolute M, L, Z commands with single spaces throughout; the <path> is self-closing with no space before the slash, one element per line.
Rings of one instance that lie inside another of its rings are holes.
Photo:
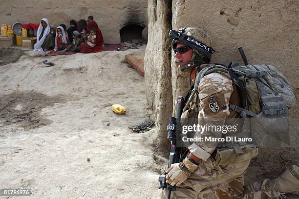
<path fill-rule="evenodd" d="M 37 31 L 37 40 L 34 44 L 34 51 L 48 51 L 55 46 L 54 38 L 50 34 L 50 25 L 46 18 L 41 20 L 40 26 Z"/>

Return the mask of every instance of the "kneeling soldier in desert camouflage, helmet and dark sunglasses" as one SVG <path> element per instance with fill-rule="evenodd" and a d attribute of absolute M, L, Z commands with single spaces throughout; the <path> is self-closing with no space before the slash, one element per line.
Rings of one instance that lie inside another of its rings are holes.
<path fill-rule="evenodd" d="M 214 52 L 211 38 L 200 28 L 183 28 L 170 33 L 171 46 L 180 70 L 187 72 L 194 83 L 198 71 L 209 65 Z M 238 118 L 239 113 L 229 109 L 229 103 L 239 105 L 240 97 L 237 88 L 226 74 L 213 72 L 204 76 L 198 84 L 198 95 L 189 104 L 190 109 L 183 112 L 181 118 L 198 117 L 202 121 L 218 121 L 225 118 Z M 198 107 L 196 114 L 195 107 Z M 195 112 L 195 114 L 194 114 Z M 197 116 L 198 115 L 198 116 Z M 221 132 L 201 132 L 202 136 L 221 138 Z M 276 199 L 284 193 L 299 194 L 299 168 L 291 166 L 276 179 L 265 179 L 244 186 L 244 173 L 250 159 L 257 155 L 257 148 L 245 144 L 234 147 L 234 151 L 243 154 L 242 161 L 219 165 L 216 163 L 215 149 L 219 143 L 196 141 L 189 146 L 189 155 L 180 163 L 171 165 L 166 173 L 167 183 L 176 186 L 171 192 L 171 199 L 204 199 L 212 192 L 218 199 Z M 242 153 L 243 153 L 242 152 Z M 228 157 L 230 158 L 230 157 Z M 168 198 L 164 189 L 162 199 Z"/>

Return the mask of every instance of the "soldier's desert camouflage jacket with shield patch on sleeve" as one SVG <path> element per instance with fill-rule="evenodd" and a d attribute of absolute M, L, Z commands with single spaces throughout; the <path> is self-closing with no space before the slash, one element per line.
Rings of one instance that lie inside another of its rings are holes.
<path fill-rule="evenodd" d="M 229 109 L 229 103 L 239 104 L 239 95 L 232 80 L 224 74 L 211 73 L 203 77 L 198 86 L 198 96 L 194 96 L 190 109 L 182 114 L 182 119 L 194 117 L 194 109 L 197 105 L 199 109 L 198 124 L 206 123 L 216 125 L 221 123 L 221 119 L 237 118 L 238 113 Z M 223 121 L 223 120 L 222 120 Z M 203 131 L 201 137 L 221 138 L 222 132 Z M 207 161 L 217 147 L 217 141 L 196 141 L 188 148 L 196 157 Z"/>

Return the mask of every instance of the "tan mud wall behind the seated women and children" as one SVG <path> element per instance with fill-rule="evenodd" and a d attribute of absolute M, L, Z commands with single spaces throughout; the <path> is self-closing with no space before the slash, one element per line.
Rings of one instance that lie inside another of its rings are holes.
<path fill-rule="evenodd" d="M 0 23 L 39 23 L 47 18 L 50 25 L 70 20 L 87 20 L 89 15 L 98 23 L 106 43 L 120 43 L 120 29 L 127 24 L 148 25 L 147 0 L 1 0 Z"/>

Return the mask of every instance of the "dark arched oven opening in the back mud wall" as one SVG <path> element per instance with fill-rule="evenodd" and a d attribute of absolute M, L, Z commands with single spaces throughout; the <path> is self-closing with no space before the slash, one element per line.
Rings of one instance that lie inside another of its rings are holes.
<path fill-rule="evenodd" d="M 132 40 L 142 40 L 142 30 L 145 25 L 128 24 L 125 25 L 120 31 L 122 42 L 132 42 Z"/>

